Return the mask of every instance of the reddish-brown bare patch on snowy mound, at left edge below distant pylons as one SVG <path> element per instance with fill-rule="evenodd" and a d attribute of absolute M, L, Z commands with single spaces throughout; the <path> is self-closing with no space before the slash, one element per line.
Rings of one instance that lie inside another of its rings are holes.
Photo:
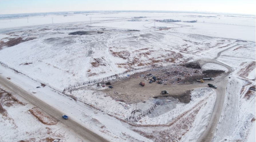
<path fill-rule="evenodd" d="M 18 45 L 19 43 L 22 43 L 25 41 L 30 41 L 30 40 L 36 39 L 36 37 L 28 37 L 26 39 L 23 39 L 23 38 L 24 37 L 9 38 L 9 41 L 7 41 L 7 42 L 0 41 L 0 50 L 4 46 L 11 47 L 11 46 Z"/>

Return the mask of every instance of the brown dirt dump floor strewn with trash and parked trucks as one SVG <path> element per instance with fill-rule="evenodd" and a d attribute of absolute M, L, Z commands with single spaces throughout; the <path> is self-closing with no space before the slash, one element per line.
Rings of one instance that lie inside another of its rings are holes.
<path fill-rule="evenodd" d="M 211 74 L 213 77 L 220 75 L 224 71 L 208 70 L 203 73 L 201 69 L 192 69 L 184 66 L 173 65 L 150 69 L 141 73 L 135 73 L 124 79 L 111 82 L 113 88 L 105 89 L 106 96 L 112 97 L 116 101 L 122 101 L 127 104 L 139 103 L 157 99 L 178 99 L 180 102 L 190 102 L 190 91 L 198 87 L 207 87 L 207 83 L 197 82 L 196 79 Z M 151 75 L 150 75 L 151 74 Z M 159 80 L 149 83 L 155 76 Z M 145 86 L 139 85 L 144 82 Z M 162 82 L 158 84 L 157 82 Z M 207 81 L 206 81 L 207 82 Z M 161 95 L 160 92 L 166 90 L 169 94 Z"/>

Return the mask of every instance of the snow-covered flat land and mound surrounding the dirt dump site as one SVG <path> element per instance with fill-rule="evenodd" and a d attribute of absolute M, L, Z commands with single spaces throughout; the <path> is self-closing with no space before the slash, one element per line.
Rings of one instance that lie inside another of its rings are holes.
<path fill-rule="evenodd" d="M 140 16 L 144 18 L 128 21 Z M 154 19 L 197 20 L 197 23 L 160 23 Z M 98 89 L 95 83 L 91 83 L 66 93 L 78 100 L 74 101 L 61 93 L 63 89 L 125 71 L 132 74 L 138 67 L 195 60 L 206 62 L 203 70 L 231 73 L 213 141 L 255 141 L 252 134 L 255 133 L 256 115 L 255 17 L 198 13 L 91 13 L 87 16 L 0 19 L 0 27 L 0 62 L 3 63 L 0 75 L 10 78 L 9 81 L 109 141 L 197 141 L 209 125 L 216 91 L 209 87 L 195 88 L 190 103 L 163 101 L 167 105 L 156 107 L 152 114 L 131 124 L 119 119 L 125 120 L 138 108 L 142 111 L 148 109 L 155 100 L 126 104 L 105 97 L 104 88 Z M 99 34 L 97 30 L 104 33 Z M 77 31 L 93 31 L 93 34 L 69 34 Z M 223 63 L 232 70 L 214 62 L 207 63 L 209 60 Z M 217 80 L 221 78 L 217 77 Z M 36 89 L 40 83 L 47 86 Z M 1 127 L 22 133 L 6 135 L 11 132 L 2 131 L 0 141 L 14 138 L 15 141 L 46 141 L 47 137 L 84 141 L 75 132 L 69 133 L 63 123 L 45 126 L 37 121 L 28 111 L 33 108 L 31 104 L 3 107 L 10 121 L 1 123 Z M 17 117 L 19 115 L 25 119 Z M 72 117 L 74 115 L 76 117 Z M 0 121 L 5 119 L 2 117 Z M 30 121 L 33 127 L 25 125 Z M 181 126 L 183 123 L 185 125 Z M 26 129 L 31 131 L 26 132 Z M 49 129 L 50 136 L 46 136 Z M 156 130 L 160 135 L 154 135 Z M 163 133 L 168 135 L 161 139 Z M 44 137 L 40 137 L 41 134 Z"/>

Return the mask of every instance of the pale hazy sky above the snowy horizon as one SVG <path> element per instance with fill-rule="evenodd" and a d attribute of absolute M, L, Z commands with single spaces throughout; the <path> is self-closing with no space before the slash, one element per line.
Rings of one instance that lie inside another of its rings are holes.
<path fill-rule="evenodd" d="M 256 14 L 256 0 L 0 0 L 0 14 L 92 10 L 207 11 Z"/>

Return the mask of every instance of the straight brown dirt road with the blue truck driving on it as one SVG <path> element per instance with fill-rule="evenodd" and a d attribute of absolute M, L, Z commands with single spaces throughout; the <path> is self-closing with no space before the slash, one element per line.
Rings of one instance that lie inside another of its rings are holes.
<path fill-rule="evenodd" d="M 17 95 L 20 95 L 21 97 L 26 99 L 31 104 L 39 107 L 40 109 L 42 109 L 43 111 L 45 111 L 46 113 L 48 113 L 49 115 L 54 117 L 55 119 L 63 122 L 64 125 L 67 125 L 71 129 L 73 129 L 77 134 L 81 135 L 84 138 L 84 141 L 86 141 L 86 142 L 108 142 L 103 137 L 93 133 L 92 131 L 83 127 L 82 125 L 73 121 L 72 119 L 68 119 L 68 120 L 63 119 L 61 117 L 63 115 L 63 113 L 61 113 L 57 109 L 49 106 L 48 104 L 40 101 L 39 99 L 37 99 L 33 95 L 27 93 L 26 91 L 24 91 L 23 89 L 21 89 L 17 85 L 9 82 L 7 79 L 5 79 L 2 76 L 0 76 L 0 85 L 4 89 L 6 89 L 7 91 L 10 91 L 10 92 L 13 92 Z"/>

